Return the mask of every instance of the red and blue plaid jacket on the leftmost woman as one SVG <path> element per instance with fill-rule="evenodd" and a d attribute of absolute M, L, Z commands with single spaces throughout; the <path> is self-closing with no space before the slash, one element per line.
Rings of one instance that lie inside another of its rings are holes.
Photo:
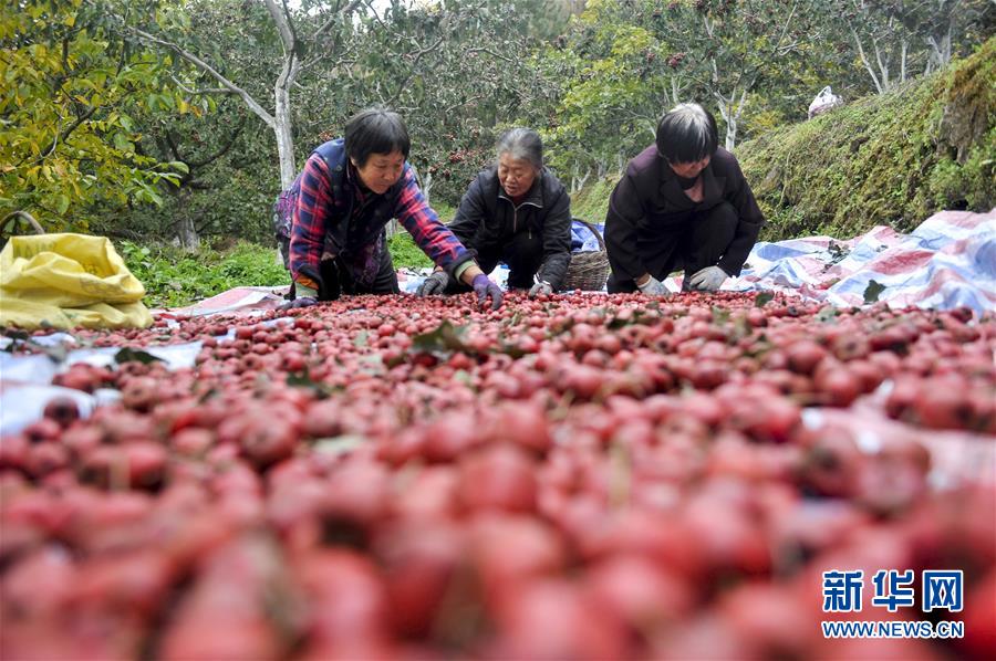
<path fill-rule="evenodd" d="M 326 245 L 353 267 L 357 280 L 375 273 L 385 250 L 384 228 L 392 218 L 437 265 L 453 274 L 470 252 L 426 203 L 405 162 L 401 179 L 383 195 L 365 191 L 346 158 L 343 139 L 312 151 L 299 177 L 290 238 L 290 270 L 295 282 L 320 288 L 319 264 Z M 374 271 L 367 273 L 374 269 Z"/>

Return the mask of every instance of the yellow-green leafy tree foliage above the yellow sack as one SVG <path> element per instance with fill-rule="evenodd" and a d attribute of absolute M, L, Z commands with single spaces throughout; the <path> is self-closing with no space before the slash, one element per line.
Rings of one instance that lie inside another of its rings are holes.
<path fill-rule="evenodd" d="M 94 202 L 162 202 L 186 172 L 136 149 L 136 117 L 199 113 L 165 61 L 116 39 L 103 3 L 22 0 L 0 8 L 0 217 L 85 230 Z"/>

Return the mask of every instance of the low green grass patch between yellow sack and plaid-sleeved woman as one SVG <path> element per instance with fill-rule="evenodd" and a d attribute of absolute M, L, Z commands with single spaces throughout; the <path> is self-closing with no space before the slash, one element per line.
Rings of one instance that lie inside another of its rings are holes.
<path fill-rule="evenodd" d="M 145 304 L 181 307 L 237 286 L 290 284 L 274 249 L 239 242 L 230 250 L 204 249 L 189 254 L 168 244 L 115 246 L 132 273 L 145 285 Z"/>

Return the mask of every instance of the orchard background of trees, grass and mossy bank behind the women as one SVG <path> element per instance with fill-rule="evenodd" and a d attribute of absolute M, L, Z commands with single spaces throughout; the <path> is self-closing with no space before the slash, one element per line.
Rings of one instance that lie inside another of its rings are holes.
<path fill-rule="evenodd" d="M 261 246 L 234 254 L 257 255 L 243 284 L 283 284 L 262 250 L 276 196 L 377 103 L 407 119 L 445 220 L 526 125 L 574 214 L 603 222 L 656 118 L 698 101 L 759 193 L 762 239 L 910 231 L 996 204 L 994 22 L 986 0 L 19 0 L 0 9 L 0 238 L 29 231 L 23 210 L 132 241 L 129 266 L 173 274 L 147 276 L 170 304 L 222 291 L 183 263 L 238 241 Z M 848 106 L 806 122 L 828 84 Z"/>

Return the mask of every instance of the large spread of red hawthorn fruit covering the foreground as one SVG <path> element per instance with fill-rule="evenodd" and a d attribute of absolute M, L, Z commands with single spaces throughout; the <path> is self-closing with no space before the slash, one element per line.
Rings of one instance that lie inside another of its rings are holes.
<path fill-rule="evenodd" d="M 73 365 L 58 385 L 118 401 L 0 440 L 0 658 L 992 658 L 992 315 L 473 303 L 77 332 L 203 344 L 190 368 Z M 821 415 L 859 407 L 890 431 Z M 981 469 L 938 474 L 923 430 Z M 823 612 L 822 573 L 855 569 L 863 610 Z M 964 608 L 872 608 L 879 569 L 959 569 Z"/>

